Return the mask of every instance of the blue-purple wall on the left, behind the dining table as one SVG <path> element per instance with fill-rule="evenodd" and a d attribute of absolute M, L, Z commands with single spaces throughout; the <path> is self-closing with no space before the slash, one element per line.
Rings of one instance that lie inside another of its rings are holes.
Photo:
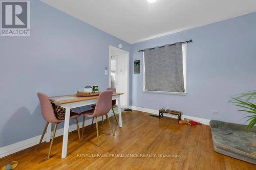
<path fill-rule="evenodd" d="M 31 36 L 0 37 L 0 148 L 42 133 L 37 92 L 72 94 L 94 83 L 106 89 L 109 45 L 119 43 L 130 51 L 129 43 L 31 1 Z"/>

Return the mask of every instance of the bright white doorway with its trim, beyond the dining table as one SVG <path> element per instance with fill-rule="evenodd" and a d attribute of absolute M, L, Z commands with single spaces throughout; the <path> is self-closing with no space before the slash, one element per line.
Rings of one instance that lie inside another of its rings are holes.
<path fill-rule="evenodd" d="M 120 96 L 121 108 L 129 107 L 129 52 L 110 45 L 109 87 L 116 88 Z M 119 104 L 117 103 L 119 106 Z"/>

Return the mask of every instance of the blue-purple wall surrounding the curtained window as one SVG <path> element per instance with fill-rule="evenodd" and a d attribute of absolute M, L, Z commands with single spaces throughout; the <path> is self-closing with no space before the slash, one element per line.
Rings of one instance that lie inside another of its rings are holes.
<path fill-rule="evenodd" d="M 187 95 L 144 93 L 142 74 L 131 69 L 130 105 L 244 123 L 244 113 L 228 101 L 234 94 L 256 90 L 256 13 L 133 44 L 130 66 L 142 61 L 138 50 L 189 39 L 194 42 L 187 45 Z"/>

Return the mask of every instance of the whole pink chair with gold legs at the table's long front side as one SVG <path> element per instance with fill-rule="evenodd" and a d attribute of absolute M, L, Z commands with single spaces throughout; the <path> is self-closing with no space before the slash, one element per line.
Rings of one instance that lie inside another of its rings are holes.
<path fill-rule="evenodd" d="M 99 94 L 99 98 L 98 98 L 98 101 L 96 103 L 95 109 L 91 109 L 91 110 L 84 111 L 84 112 L 80 113 L 80 114 L 83 115 L 82 136 L 83 136 L 83 127 L 84 127 L 85 117 L 87 116 L 87 117 L 95 117 L 96 118 L 96 130 L 97 130 L 97 138 L 98 138 L 98 147 L 99 147 L 99 130 L 98 130 L 98 117 L 99 116 L 103 116 L 103 115 L 106 116 L 106 119 L 108 119 L 109 126 L 110 126 L 110 129 L 111 129 L 112 133 L 113 133 L 113 136 L 115 135 L 114 131 L 111 127 L 109 116 L 108 116 L 108 112 L 110 111 L 111 106 L 112 106 L 112 95 L 113 95 L 113 91 L 110 91 L 110 90 L 101 92 Z"/>

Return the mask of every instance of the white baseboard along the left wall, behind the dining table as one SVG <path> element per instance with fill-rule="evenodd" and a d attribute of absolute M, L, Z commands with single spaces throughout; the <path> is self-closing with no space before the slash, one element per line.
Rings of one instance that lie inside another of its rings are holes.
<path fill-rule="evenodd" d="M 113 113 L 109 113 L 108 115 L 109 115 L 109 117 L 111 117 L 113 115 Z M 105 119 L 105 118 L 103 118 L 103 119 Z M 99 117 L 98 122 L 99 121 L 101 121 L 101 117 Z M 95 122 L 95 120 L 94 120 L 94 122 Z M 85 124 L 85 126 L 91 125 L 92 119 L 86 120 L 86 122 L 84 124 Z M 80 128 L 82 127 L 82 122 L 79 122 L 79 127 Z M 44 129 L 42 129 L 42 130 L 44 130 Z M 69 132 L 72 132 L 75 130 L 77 130 L 76 124 L 69 126 Z M 55 137 L 58 137 L 61 135 L 63 135 L 63 128 L 57 129 Z M 52 134 L 51 134 L 51 136 L 52 136 Z M 2 148 L 0 148 L 0 158 L 11 155 L 11 154 L 19 152 L 19 151 L 22 151 L 27 148 L 33 147 L 34 145 L 39 143 L 40 138 L 41 138 L 41 135 L 38 135 L 38 136 L 29 138 L 29 139 L 26 139 L 23 141 L 19 141 L 17 143 L 7 145 L 5 147 L 2 147 Z M 42 142 L 45 142 L 45 141 L 46 141 L 46 135 L 42 139 Z"/>

